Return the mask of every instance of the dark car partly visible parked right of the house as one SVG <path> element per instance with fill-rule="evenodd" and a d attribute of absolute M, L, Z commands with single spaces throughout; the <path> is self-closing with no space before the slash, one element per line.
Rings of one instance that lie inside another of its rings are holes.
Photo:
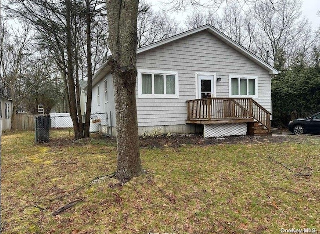
<path fill-rule="evenodd" d="M 294 119 L 290 121 L 289 131 L 294 134 L 320 134 L 320 112 L 307 118 Z"/>

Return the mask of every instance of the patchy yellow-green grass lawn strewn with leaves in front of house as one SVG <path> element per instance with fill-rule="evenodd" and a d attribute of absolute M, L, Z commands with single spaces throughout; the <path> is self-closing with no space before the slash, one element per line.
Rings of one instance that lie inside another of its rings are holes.
<path fill-rule="evenodd" d="M 256 234 L 316 228 L 319 232 L 320 137 L 256 139 L 174 147 L 141 144 L 148 173 L 122 185 L 105 177 L 91 182 L 115 171 L 114 139 L 35 144 L 33 132 L 5 133 L 1 231 Z M 52 215 L 70 203 L 69 209 Z"/>

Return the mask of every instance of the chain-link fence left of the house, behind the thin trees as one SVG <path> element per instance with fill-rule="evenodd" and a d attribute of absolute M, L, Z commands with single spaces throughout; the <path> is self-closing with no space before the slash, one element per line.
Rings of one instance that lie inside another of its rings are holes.
<path fill-rule="evenodd" d="M 42 118 L 36 118 L 40 120 L 40 124 L 36 124 L 35 126 L 35 140 L 37 142 L 48 142 L 48 136 L 49 140 L 74 138 L 73 122 L 70 113 L 51 113 L 47 117 L 49 118 L 47 120 L 49 128 L 46 127 L 47 125 L 41 124 Z M 82 121 L 84 130 L 84 115 L 82 116 Z M 100 133 L 112 135 L 111 125 L 111 112 L 91 114 L 90 134 Z M 42 129 L 43 126 L 46 128 Z M 46 133 L 46 131 L 49 132 Z M 42 139 L 42 136 L 45 137 L 45 139 Z"/>

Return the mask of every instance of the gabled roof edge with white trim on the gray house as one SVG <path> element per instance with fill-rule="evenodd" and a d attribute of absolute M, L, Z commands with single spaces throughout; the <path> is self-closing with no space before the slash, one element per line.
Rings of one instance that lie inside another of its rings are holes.
<path fill-rule="evenodd" d="M 259 57 L 257 57 L 253 53 L 251 53 L 249 50 L 247 50 L 243 46 L 241 46 L 238 43 L 236 43 L 230 37 L 224 35 L 222 32 L 220 32 L 218 29 L 216 29 L 215 27 L 211 26 L 210 24 L 206 24 L 204 26 L 201 26 L 201 27 L 198 27 L 198 28 L 195 28 L 195 29 L 192 29 L 192 30 L 180 33 L 180 34 L 177 34 L 175 36 L 172 36 L 172 37 L 169 37 L 167 39 L 155 42 L 153 44 L 138 48 L 136 53 L 137 54 L 143 53 L 145 51 L 154 49 L 156 47 L 165 45 L 167 43 L 179 40 L 181 38 L 184 38 L 186 36 L 189 36 L 189 35 L 201 32 L 201 31 L 208 31 L 209 33 L 211 33 L 212 35 L 214 35 L 218 39 L 222 40 L 224 43 L 228 44 L 229 46 L 234 48 L 236 51 L 238 51 L 239 53 L 241 53 L 245 57 L 249 58 L 253 62 L 257 63 L 259 66 L 261 66 L 262 68 L 267 70 L 270 75 L 279 74 L 279 71 L 276 70 L 273 66 L 271 66 L 270 64 L 264 62 L 262 59 L 260 59 Z M 104 62 L 104 64 L 94 74 L 94 76 L 92 78 L 93 85 L 95 85 L 99 80 L 101 80 L 101 78 L 103 78 L 105 75 L 107 75 L 110 72 L 111 68 L 110 68 L 110 66 L 108 66 L 109 62 L 110 62 L 109 60 Z M 85 87 L 85 89 L 86 89 L 86 87 Z"/>

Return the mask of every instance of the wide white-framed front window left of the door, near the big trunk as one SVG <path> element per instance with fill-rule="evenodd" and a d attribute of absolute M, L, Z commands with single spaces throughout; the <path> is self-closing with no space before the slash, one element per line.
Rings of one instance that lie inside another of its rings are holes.
<path fill-rule="evenodd" d="M 138 70 L 139 98 L 179 98 L 179 73 Z"/>

